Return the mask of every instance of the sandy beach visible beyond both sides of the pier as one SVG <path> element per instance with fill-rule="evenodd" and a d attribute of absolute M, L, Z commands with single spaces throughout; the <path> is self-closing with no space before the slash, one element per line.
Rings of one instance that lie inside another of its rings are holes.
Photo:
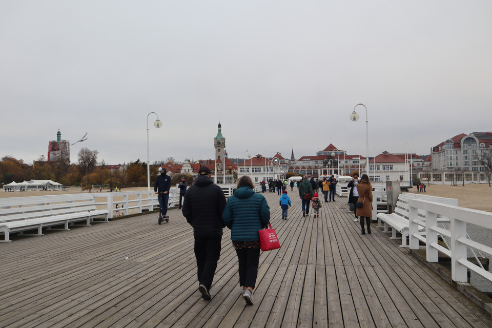
<path fill-rule="evenodd" d="M 136 190 L 147 190 L 147 188 L 146 187 L 124 188 L 123 191 L 136 191 Z M 492 188 L 488 187 L 487 183 L 484 183 L 482 185 L 465 185 L 464 187 L 461 185 L 458 186 L 430 185 L 430 186 L 426 186 L 425 191 L 426 194 L 432 196 L 457 198 L 458 204 L 461 207 L 492 212 Z M 413 191 L 411 190 L 410 192 L 416 192 L 416 188 L 414 188 Z M 61 193 L 65 194 L 69 192 L 61 192 Z M 57 195 L 57 194 L 60 194 L 60 192 L 59 191 L 24 191 L 24 192 L 15 191 L 15 192 L 6 193 L 2 190 L 2 192 L 0 192 L 0 198 Z M 94 194 L 97 194 L 97 192 Z"/>

